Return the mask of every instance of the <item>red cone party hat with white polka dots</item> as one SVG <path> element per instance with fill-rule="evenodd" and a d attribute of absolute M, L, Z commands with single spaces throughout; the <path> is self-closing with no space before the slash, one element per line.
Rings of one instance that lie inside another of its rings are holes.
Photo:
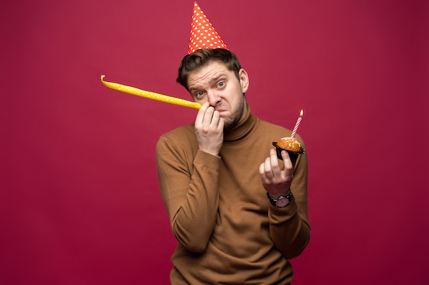
<path fill-rule="evenodd" d="M 204 12 L 194 3 L 188 54 L 197 49 L 228 49 Z"/>

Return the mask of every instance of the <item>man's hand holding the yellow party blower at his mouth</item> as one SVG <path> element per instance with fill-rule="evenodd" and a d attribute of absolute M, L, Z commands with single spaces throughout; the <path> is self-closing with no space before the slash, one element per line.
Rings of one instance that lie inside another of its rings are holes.
<path fill-rule="evenodd" d="M 195 119 L 195 135 L 199 150 L 219 155 L 223 144 L 223 118 L 215 108 L 204 103 Z"/>

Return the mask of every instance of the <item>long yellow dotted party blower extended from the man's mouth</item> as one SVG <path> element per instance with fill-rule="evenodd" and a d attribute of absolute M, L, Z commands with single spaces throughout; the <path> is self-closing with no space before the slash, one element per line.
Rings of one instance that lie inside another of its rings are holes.
<path fill-rule="evenodd" d="M 153 100 L 162 101 L 165 103 L 180 105 L 180 106 L 184 106 L 184 107 L 190 107 L 190 108 L 195 108 L 195 109 L 201 108 L 201 104 L 199 104 L 197 102 L 192 102 L 192 101 L 188 101 L 188 100 L 184 100 L 184 99 L 180 99 L 180 98 L 175 98 L 175 97 L 171 97 L 171 96 L 167 96 L 167 95 L 162 95 L 162 94 L 158 94 L 158 93 L 154 93 L 154 92 L 140 90 L 138 88 L 130 87 L 127 85 L 122 85 L 119 83 L 103 81 L 103 78 L 104 78 L 104 75 L 101 75 L 101 82 L 104 85 L 106 85 L 107 87 L 112 88 L 114 90 L 118 90 L 121 92 L 133 94 L 133 95 L 137 95 L 140 97 L 145 97 L 145 98 L 149 98 L 149 99 L 153 99 Z"/>

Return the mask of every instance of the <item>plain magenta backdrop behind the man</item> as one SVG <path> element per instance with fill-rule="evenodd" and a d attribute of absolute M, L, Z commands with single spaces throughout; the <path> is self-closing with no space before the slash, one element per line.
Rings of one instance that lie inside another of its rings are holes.
<path fill-rule="evenodd" d="M 175 83 L 192 0 L 5 1 L 0 284 L 168 284 L 155 144 L 196 110 Z M 23 3 L 25 2 L 25 3 Z M 428 284 L 428 1 L 200 0 L 257 116 L 308 147 L 299 284 Z"/>

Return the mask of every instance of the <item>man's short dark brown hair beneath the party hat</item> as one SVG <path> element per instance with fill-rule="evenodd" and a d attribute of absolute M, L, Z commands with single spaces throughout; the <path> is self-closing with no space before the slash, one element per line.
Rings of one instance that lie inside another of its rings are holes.
<path fill-rule="evenodd" d="M 239 79 L 238 72 L 241 70 L 241 64 L 234 53 L 228 51 L 228 49 L 199 49 L 182 58 L 182 62 L 180 62 L 179 66 L 179 72 L 177 74 L 177 83 L 180 83 L 180 85 L 189 91 L 189 73 L 212 61 L 222 62 L 228 70 L 234 71 L 237 79 Z"/>

